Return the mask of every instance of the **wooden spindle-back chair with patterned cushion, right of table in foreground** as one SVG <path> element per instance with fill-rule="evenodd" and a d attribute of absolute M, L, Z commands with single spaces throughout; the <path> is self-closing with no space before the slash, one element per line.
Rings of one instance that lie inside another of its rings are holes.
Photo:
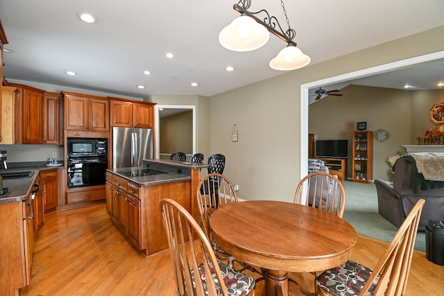
<path fill-rule="evenodd" d="M 404 295 L 424 199 L 418 200 L 376 267 L 347 261 L 316 278 L 319 295 Z"/>

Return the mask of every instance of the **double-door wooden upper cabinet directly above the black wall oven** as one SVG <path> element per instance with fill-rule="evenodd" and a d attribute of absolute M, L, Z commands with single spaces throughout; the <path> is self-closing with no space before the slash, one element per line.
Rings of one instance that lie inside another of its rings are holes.
<path fill-rule="evenodd" d="M 62 92 L 65 96 L 65 130 L 108 132 L 110 101 L 106 97 Z"/>

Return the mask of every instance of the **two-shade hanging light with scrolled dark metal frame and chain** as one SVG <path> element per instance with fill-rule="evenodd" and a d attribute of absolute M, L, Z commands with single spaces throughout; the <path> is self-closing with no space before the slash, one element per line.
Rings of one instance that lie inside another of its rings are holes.
<path fill-rule="evenodd" d="M 270 37 L 268 30 L 270 33 L 280 37 L 284 42 L 287 42 L 287 47 L 282 49 L 271 60 L 269 65 L 272 69 L 289 71 L 307 66 L 311 58 L 296 47 L 298 44 L 293 41 L 296 31 L 290 27 L 287 10 L 285 10 L 282 0 L 281 5 L 289 27 L 285 31 L 279 24 L 278 19 L 270 16 L 266 10 L 250 12 L 248 8 L 251 6 L 251 0 L 240 0 L 237 4 L 234 4 L 233 9 L 239 12 L 241 16 L 222 29 L 221 33 L 219 33 L 219 42 L 225 49 L 230 49 L 230 51 L 253 51 L 268 42 Z M 262 19 L 255 16 L 260 13 L 263 13 Z M 276 26 L 279 27 L 280 31 L 277 30 Z"/>

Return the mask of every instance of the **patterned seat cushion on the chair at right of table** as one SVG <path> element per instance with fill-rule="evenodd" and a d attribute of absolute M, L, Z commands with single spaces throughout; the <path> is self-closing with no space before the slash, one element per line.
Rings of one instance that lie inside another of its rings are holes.
<path fill-rule="evenodd" d="M 354 261 L 347 261 L 336 268 L 326 270 L 316 278 L 316 284 L 328 293 L 336 296 L 359 295 L 373 270 Z M 377 277 L 377 280 L 379 277 Z M 377 280 L 370 287 L 366 296 L 373 295 Z"/>

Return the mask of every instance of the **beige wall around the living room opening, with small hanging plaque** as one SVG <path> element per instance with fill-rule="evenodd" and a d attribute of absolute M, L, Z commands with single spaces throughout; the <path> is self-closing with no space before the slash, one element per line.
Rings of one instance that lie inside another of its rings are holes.
<path fill-rule="evenodd" d="M 225 155 L 224 174 L 239 184 L 239 198 L 293 200 L 301 177 L 300 85 L 443 51 L 442 35 L 444 26 L 212 96 L 210 152 Z"/>

